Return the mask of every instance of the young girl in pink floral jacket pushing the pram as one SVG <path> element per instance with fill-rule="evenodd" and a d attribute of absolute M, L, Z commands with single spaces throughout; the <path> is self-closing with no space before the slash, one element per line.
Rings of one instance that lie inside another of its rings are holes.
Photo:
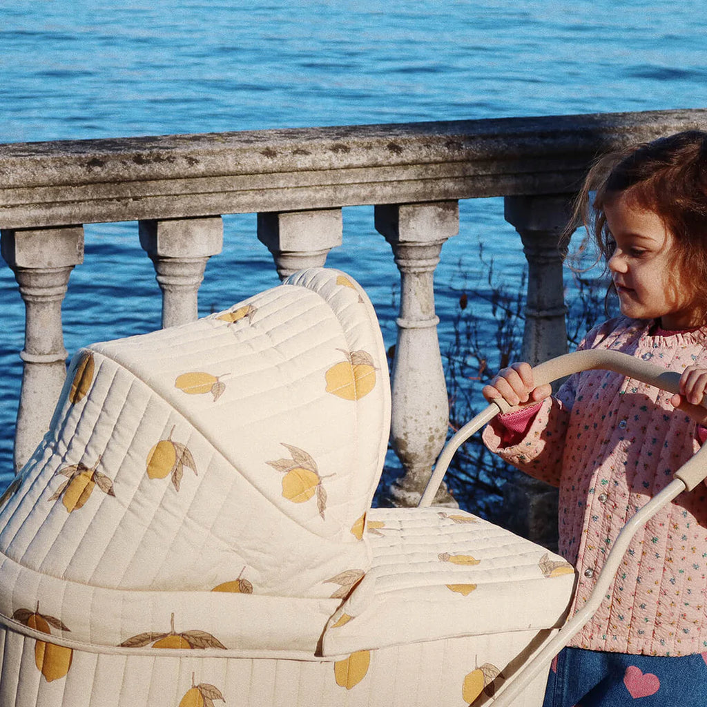
<path fill-rule="evenodd" d="M 621 308 L 579 348 L 624 351 L 682 377 L 670 395 L 587 371 L 551 397 L 516 363 L 484 387 L 489 401 L 522 404 L 487 426 L 486 445 L 559 486 L 559 551 L 578 569 L 572 614 L 626 520 L 707 439 L 697 406 L 707 392 L 707 133 L 603 158 L 577 215 L 592 223 Z M 706 496 L 703 485 L 682 493 L 638 530 L 597 614 L 553 662 L 545 707 L 707 704 Z"/>

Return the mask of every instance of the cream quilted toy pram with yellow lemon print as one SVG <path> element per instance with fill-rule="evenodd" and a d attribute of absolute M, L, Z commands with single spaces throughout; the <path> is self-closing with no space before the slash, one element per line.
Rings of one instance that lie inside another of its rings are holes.
<path fill-rule="evenodd" d="M 489 702 L 574 571 L 463 511 L 370 508 L 387 381 L 366 294 L 325 269 L 80 351 L 0 499 L 0 704 Z"/>

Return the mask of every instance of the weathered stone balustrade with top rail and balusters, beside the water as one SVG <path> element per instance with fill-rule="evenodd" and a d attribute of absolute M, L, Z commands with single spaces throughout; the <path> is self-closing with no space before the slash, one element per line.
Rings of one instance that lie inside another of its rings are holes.
<path fill-rule="evenodd" d="M 47 429 L 47 395 L 65 375 L 61 303 L 83 224 L 139 222 L 168 327 L 197 316 L 222 214 L 257 213 L 284 277 L 341 244 L 342 207 L 373 204 L 401 278 L 391 440 L 406 473 L 392 496 L 414 504 L 448 427 L 433 274 L 458 200 L 505 197 L 529 264 L 525 355 L 541 361 L 565 347 L 556 242 L 590 162 L 706 127 L 707 110 L 671 110 L 1 145 L 2 255 L 26 306 L 16 465 Z M 453 503 L 445 491 L 438 502 Z"/>

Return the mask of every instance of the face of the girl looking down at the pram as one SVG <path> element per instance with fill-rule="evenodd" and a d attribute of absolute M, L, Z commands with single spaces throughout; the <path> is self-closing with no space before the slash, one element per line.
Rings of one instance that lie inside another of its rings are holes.
<path fill-rule="evenodd" d="M 609 270 L 621 313 L 632 319 L 660 319 L 664 329 L 699 326 L 700 312 L 691 303 L 689 282 L 681 282 L 674 237 L 662 218 L 624 196 L 605 204 L 604 215 L 616 242 Z"/>

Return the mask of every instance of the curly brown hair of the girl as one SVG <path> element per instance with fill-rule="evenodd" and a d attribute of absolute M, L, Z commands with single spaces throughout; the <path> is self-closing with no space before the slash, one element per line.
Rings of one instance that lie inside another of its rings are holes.
<path fill-rule="evenodd" d="M 595 192 L 593 200 L 590 192 Z M 597 160 L 575 202 L 565 240 L 583 224 L 607 263 L 614 239 L 604 206 L 619 196 L 662 218 L 676 246 L 674 271 L 682 282 L 694 284 L 694 305 L 707 320 L 707 132 L 679 132 Z M 613 291 L 612 284 L 607 296 Z"/>

